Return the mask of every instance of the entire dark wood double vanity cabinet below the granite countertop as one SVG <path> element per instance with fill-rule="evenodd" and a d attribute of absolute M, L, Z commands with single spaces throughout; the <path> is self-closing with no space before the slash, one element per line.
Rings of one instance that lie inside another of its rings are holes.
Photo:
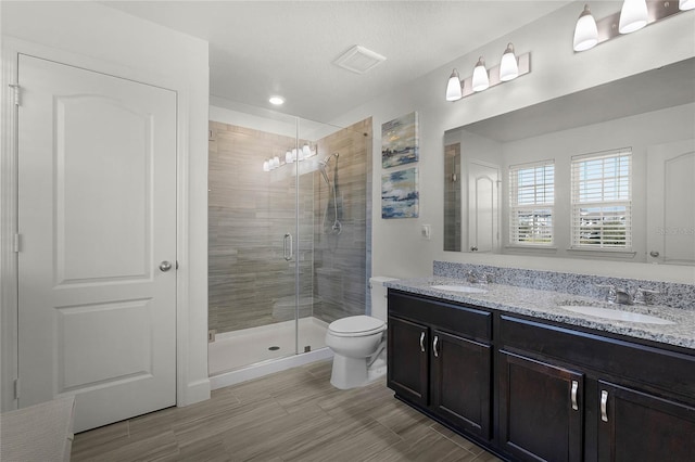
<path fill-rule="evenodd" d="M 389 290 L 388 386 L 510 461 L 695 460 L 695 354 Z"/>

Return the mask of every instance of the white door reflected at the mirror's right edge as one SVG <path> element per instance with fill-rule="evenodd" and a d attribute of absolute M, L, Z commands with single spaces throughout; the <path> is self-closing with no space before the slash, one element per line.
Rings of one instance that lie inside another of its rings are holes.
<path fill-rule="evenodd" d="M 695 265 L 695 140 L 647 149 L 647 261 Z"/>

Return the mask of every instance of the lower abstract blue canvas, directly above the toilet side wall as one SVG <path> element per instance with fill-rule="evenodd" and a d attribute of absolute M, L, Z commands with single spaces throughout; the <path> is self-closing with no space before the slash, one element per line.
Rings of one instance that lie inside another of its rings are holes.
<path fill-rule="evenodd" d="M 381 218 L 417 218 L 417 168 L 381 176 Z"/>

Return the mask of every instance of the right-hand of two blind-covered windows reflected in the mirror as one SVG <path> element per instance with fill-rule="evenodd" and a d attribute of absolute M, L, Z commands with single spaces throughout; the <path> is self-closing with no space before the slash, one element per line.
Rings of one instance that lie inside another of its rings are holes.
<path fill-rule="evenodd" d="M 632 247 L 632 150 L 572 157 L 572 246 Z"/>

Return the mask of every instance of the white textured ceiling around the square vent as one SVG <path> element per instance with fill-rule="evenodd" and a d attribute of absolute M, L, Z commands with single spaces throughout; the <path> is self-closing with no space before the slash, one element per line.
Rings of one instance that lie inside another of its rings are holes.
<path fill-rule="evenodd" d="M 567 1 L 112 1 L 210 42 L 212 95 L 330 121 Z M 358 75 L 332 61 L 355 44 L 387 57 Z M 501 50 L 502 53 L 503 50 Z M 446 79 L 442 76 L 442 86 Z"/>

